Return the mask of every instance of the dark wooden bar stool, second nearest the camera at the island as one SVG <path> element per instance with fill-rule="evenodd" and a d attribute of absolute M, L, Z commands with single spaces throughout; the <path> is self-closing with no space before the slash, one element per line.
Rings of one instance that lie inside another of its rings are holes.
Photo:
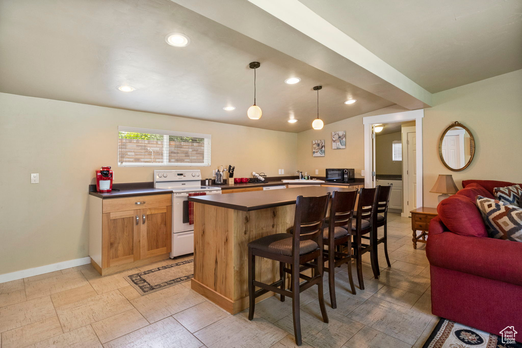
<path fill-rule="evenodd" d="M 324 260 L 328 261 L 328 267 L 323 270 L 328 272 L 328 286 L 330 290 L 330 303 L 332 308 L 337 308 L 335 298 L 335 268 L 342 264 L 348 264 L 348 279 L 350 289 L 355 294 L 352 279 L 352 216 L 358 190 L 334 191 L 330 203 L 330 217 L 326 222 L 328 227 L 323 232 L 323 244 L 328 250 L 323 250 Z M 345 246 L 345 247 L 343 247 Z M 343 250 L 341 252 L 341 250 Z"/>

